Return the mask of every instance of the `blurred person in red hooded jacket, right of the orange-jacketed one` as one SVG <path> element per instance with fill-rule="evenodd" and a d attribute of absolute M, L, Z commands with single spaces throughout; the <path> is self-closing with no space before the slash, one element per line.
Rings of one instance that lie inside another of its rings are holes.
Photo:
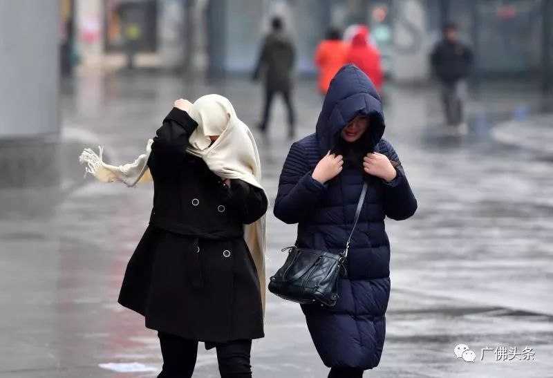
<path fill-rule="evenodd" d="M 348 51 L 348 63 L 359 67 L 375 84 L 378 93 L 382 93 L 382 84 L 384 84 L 384 73 L 378 49 L 368 44 L 369 31 L 366 26 L 362 26 L 351 41 Z"/>

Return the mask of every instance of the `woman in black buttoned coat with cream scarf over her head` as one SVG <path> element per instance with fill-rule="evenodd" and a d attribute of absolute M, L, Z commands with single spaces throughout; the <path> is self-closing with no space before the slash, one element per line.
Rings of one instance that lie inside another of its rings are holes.
<path fill-rule="evenodd" d="M 263 337 L 265 211 L 252 133 L 223 96 L 177 100 L 147 153 L 114 167 L 86 149 L 87 171 L 128 186 L 153 180 L 149 226 L 119 303 L 158 331 L 160 378 L 192 377 L 198 342 L 216 348 L 221 377 L 252 377 Z"/>

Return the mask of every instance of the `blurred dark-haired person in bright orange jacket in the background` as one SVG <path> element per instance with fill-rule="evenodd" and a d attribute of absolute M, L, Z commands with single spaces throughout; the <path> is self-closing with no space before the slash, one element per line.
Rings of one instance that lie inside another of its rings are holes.
<path fill-rule="evenodd" d="M 315 65 L 319 68 L 319 91 L 326 95 L 330 80 L 347 62 L 349 45 L 342 41 L 341 32 L 330 28 L 326 39 L 321 41 L 315 51 Z"/>

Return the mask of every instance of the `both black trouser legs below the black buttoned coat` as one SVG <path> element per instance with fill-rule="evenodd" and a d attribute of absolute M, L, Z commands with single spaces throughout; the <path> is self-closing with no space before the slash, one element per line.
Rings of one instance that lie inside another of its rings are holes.
<path fill-rule="evenodd" d="M 163 356 L 163 370 L 158 378 L 191 378 L 198 356 L 198 341 L 164 332 L 158 332 L 158 337 Z M 216 344 L 216 350 L 222 378 L 252 377 L 251 340 Z"/>

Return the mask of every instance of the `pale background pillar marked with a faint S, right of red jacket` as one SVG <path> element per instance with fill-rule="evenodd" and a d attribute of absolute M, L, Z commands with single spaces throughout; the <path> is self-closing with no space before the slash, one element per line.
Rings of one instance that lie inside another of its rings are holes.
<path fill-rule="evenodd" d="M 427 10 L 424 5 L 423 0 L 393 1 L 391 73 L 396 82 L 424 82 L 429 77 Z"/>

